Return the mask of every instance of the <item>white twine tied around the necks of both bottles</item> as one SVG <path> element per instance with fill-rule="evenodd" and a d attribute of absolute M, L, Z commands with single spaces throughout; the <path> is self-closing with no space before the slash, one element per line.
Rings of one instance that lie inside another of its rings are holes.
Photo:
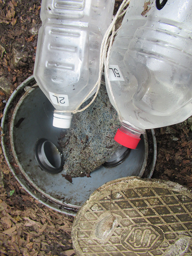
<path fill-rule="evenodd" d="M 107 82 L 108 82 L 108 85 L 109 85 L 109 90 L 110 90 L 110 93 L 111 93 L 111 97 L 113 98 L 113 101 L 114 101 L 114 104 L 115 104 L 114 107 L 117 110 L 117 113 L 119 115 L 119 119 L 123 120 L 123 118 L 122 118 L 122 116 L 119 112 L 119 109 L 116 105 L 116 101 L 114 99 L 114 95 L 113 95 L 113 92 L 112 92 L 112 89 L 111 89 L 111 83 L 110 83 L 109 75 L 108 75 L 108 66 L 109 66 L 109 54 L 110 54 L 110 51 L 111 51 L 113 39 L 114 39 L 116 33 L 118 32 L 118 30 L 121 28 L 120 27 L 115 31 L 116 21 L 117 21 L 118 18 L 120 18 L 121 16 L 123 16 L 125 14 L 125 12 L 127 11 L 127 8 L 125 10 L 124 10 L 124 8 L 126 7 L 126 5 L 129 4 L 129 2 L 130 2 L 130 0 L 124 0 L 122 2 L 122 4 L 119 6 L 119 9 L 118 9 L 115 17 L 113 18 L 110 26 L 108 27 L 108 29 L 107 29 L 104 37 L 103 37 L 103 40 L 102 40 L 102 43 L 101 43 L 101 48 L 100 48 L 99 77 L 98 77 L 98 80 L 97 80 L 96 84 L 92 88 L 92 90 L 87 94 L 87 96 L 84 98 L 84 100 L 74 110 L 54 110 L 54 112 L 56 112 L 56 113 L 73 113 L 73 114 L 76 114 L 77 112 L 82 112 L 86 108 L 88 108 L 93 103 L 93 101 L 96 99 L 97 94 L 99 92 L 100 84 L 101 84 L 101 77 L 102 77 L 102 72 L 103 72 L 103 65 L 105 65 L 105 74 L 106 74 L 106 77 L 107 77 Z M 111 34 L 111 36 L 110 36 L 110 34 Z M 85 102 L 85 100 L 87 100 L 89 98 L 89 96 L 92 94 L 92 92 L 95 90 L 96 87 L 97 87 L 97 91 L 95 92 L 95 95 L 94 95 L 93 99 L 91 100 L 91 102 L 88 105 L 86 105 L 84 108 L 79 109 L 81 107 L 81 105 Z"/>

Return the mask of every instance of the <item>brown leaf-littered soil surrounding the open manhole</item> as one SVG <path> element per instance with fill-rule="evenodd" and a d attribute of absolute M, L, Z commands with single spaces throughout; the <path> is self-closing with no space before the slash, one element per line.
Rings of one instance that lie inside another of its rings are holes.
<path fill-rule="evenodd" d="M 121 1 L 116 1 L 116 9 Z M 38 0 L 0 0 L 0 118 L 13 90 L 33 74 Z M 153 178 L 192 188 L 192 121 L 156 129 L 157 161 Z M 0 255 L 75 255 L 70 237 L 73 217 L 40 204 L 21 188 L 0 148 L 4 186 L 0 188 Z"/>

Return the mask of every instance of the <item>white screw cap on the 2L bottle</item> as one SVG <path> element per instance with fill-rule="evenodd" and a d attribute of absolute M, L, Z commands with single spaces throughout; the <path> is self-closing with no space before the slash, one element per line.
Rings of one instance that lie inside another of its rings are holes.
<path fill-rule="evenodd" d="M 53 126 L 63 129 L 68 129 L 71 126 L 72 115 L 63 115 L 60 113 L 53 113 Z"/>

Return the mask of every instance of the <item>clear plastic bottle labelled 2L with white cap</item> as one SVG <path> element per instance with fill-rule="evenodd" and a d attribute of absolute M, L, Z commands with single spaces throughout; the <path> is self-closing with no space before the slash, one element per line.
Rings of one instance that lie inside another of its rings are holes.
<path fill-rule="evenodd" d="M 42 0 L 34 77 L 56 110 L 74 110 L 97 82 L 115 0 Z M 90 97 L 94 94 L 90 95 Z M 54 113 L 69 128 L 71 113 Z"/>

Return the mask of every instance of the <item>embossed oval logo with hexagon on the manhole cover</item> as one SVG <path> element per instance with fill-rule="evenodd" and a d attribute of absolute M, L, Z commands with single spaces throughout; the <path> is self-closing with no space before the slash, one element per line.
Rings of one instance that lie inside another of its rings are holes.
<path fill-rule="evenodd" d="M 121 235 L 121 244 L 130 251 L 146 252 L 159 247 L 164 241 L 163 231 L 146 223 L 132 225 Z"/>

